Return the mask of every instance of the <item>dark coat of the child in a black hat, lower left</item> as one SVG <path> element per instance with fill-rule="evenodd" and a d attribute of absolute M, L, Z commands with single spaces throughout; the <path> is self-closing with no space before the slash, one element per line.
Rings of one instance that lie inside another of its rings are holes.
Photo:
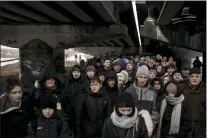
<path fill-rule="evenodd" d="M 36 130 L 34 130 L 33 121 L 36 121 Z M 56 115 L 46 118 L 41 114 L 37 120 L 33 121 L 28 125 L 27 138 L 70 138 L 67 122 Z"/>

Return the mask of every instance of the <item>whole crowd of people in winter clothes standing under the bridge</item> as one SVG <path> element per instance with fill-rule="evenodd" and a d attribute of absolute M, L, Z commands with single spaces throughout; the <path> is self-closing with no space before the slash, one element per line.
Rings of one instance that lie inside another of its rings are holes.
<path fill-rule="evenodd" d="M 112 53 L 82 60 L 64 81 L 48 71 L 32 92 L 8 77 L 1 137 L 205 138 L 201 64 L 188 71 L 177 64 L 173 57 Z"/>

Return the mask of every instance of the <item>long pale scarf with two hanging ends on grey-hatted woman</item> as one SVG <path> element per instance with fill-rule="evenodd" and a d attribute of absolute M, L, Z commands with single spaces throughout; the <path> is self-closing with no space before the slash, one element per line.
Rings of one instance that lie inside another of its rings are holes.
<path fill-rule="evenodd" d="M 170 131 L 169 134 L 177 134 L 180 129 L 180 117 L 181 117 L 181 106 L 182 101 L 184 100 L 183 94 L 180 95 L 180 97 L 168 97 L 165 96 L 165 99 L 162 101 L 161 109 L 160 109 L 160 122 L 157 130 L 157 137 L 160 138 L 161 134 L 161 127 L 162 127 L 162 117 L 165 112 L 165 108 L 167 106 L 167 103 L 170 105 L 175 105 L 172 111 L 171 116 L 171 124 L 170 124 Z"/>

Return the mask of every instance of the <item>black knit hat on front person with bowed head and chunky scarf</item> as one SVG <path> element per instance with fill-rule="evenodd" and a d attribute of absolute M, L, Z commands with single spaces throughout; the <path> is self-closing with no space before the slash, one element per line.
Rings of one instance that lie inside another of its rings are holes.
<path fill-rule="evenodd" d="M 128 92 L 122 92 L 118 96 L 116 107 L 132 107 L 134 108 L 134 101 L 132 95 Z"/>

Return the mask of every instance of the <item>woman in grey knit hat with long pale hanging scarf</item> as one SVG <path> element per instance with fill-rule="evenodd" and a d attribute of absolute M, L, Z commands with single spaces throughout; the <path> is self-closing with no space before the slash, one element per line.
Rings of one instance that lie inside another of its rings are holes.
<path fill-rule="evenodd" d="M 157 138 L 192 138 L 191 111 L 175 82 L 166 84 L 167 96 L 162 101 Z"/>

